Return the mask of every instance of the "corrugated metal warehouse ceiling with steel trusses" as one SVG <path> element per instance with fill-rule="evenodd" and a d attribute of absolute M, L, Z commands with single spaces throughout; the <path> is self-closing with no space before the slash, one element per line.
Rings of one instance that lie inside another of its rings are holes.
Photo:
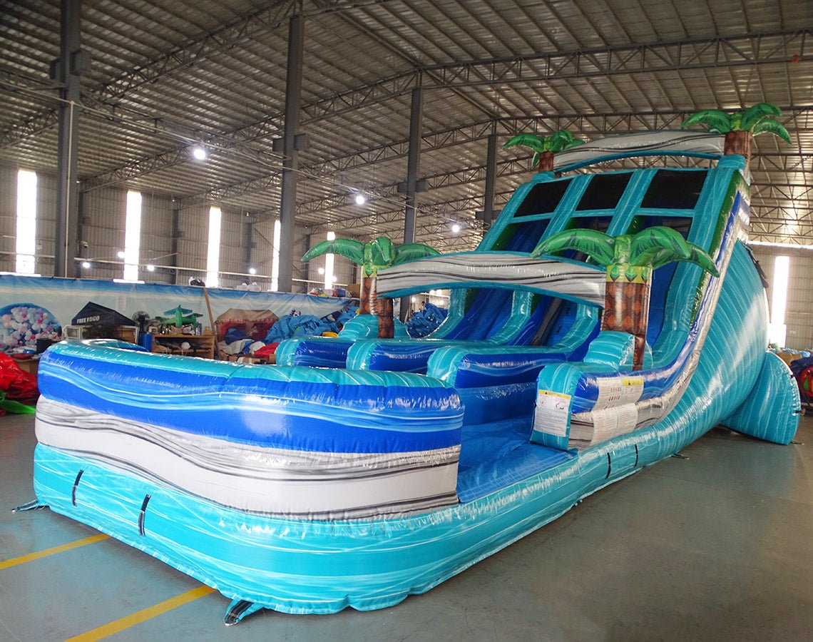
<path fill-rule="evenodd" d="M 0 162 L 53 171 L 58 0 L 0 0 Z M 305 20 L 296 218 L 402 234 L 411 90 L 424 88 L 418 240 L 481 238 L 486 139 L 677 129 L 701 109 L 779 105 L 791 144 L 755 140 L 751 237 L 813 238 L 809 0 L 85 0 L 80 190 L 279 214 L 289 17 Z M 208 159 L 191 157 L 202 143 Z M 677 162 L 677 161 L 676 161 Z M 696 161 L 695 161 L 696 162 Z M 496 207 L 530 176 L 498 154 Z M 367 203 L 354 202 L 354 192 Z M 453 234 L 450 226 L 463 225 Z"/>

